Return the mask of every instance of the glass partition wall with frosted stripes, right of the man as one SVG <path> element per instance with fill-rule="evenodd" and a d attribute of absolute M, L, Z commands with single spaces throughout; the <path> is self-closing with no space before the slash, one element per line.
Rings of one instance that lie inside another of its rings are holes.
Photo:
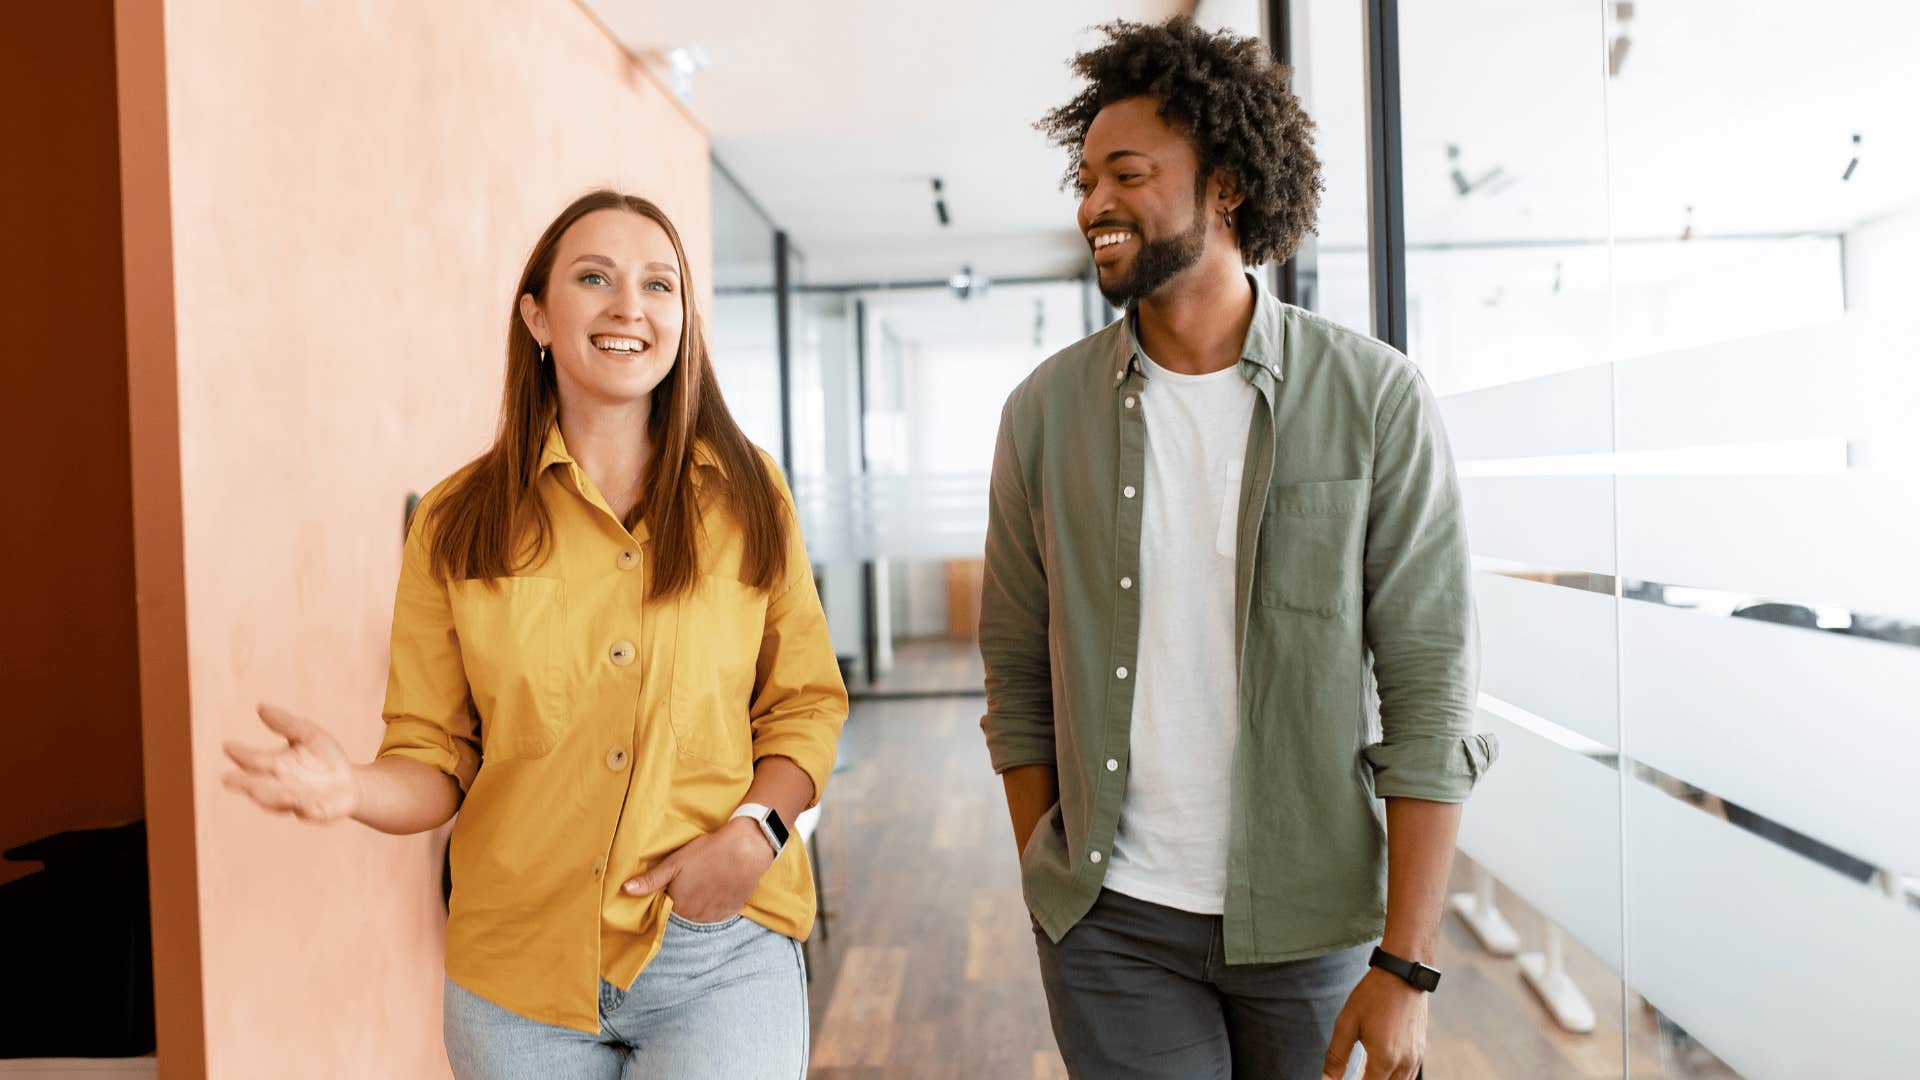
<path fill-rule="evenodd" d="M 1394 46 L 1369 279 L 1446 407 L 1503 748 L 1432 1074 L 1912 1074 L 1920 15 L 1284 8 L 1321 100 L 1319 50 Z"/>

